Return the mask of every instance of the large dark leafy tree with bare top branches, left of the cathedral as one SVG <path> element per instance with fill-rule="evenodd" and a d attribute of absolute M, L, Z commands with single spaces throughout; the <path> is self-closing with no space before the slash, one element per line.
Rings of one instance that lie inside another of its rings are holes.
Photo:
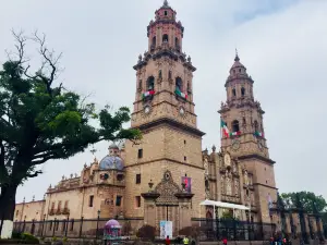
<path fill-rule="evenodd" d="M 97 111 L 86 98 L 56 83 L 61 54 L 47 48 L 45 35 L 13 35 L 17 53 L 8 53 L 0 71 L 0 220 L 4 221 L 13 220 L 17 186 L 40 174 L 39 166 L 48 160 L 68 159 L 101 140 L 141 139 L 138 130 L 122 126 L 130 121 L 129 108 Z M 25 57 L 27 41 L 38 45 L 43 60 L 34 74 Z"/>

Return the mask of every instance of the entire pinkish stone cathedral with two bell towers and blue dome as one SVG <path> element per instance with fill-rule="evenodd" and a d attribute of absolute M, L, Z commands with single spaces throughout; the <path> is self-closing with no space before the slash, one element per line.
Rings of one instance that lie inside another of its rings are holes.
<path fill-rule="evenodd" d="M 17 204 L 15 221 L 99 215 L 140 218 L 156 228 L 170 220 L 178 231 L 190 226 L 192 218 L 216 217 L 215 205 L 201 205 L 211 200 L 245 207 L 246 213 L 230 210 L 238 219 L 271 222 L 269 209 L 277 200 L 275 161 L 265 138 L 265 112 L 253 94 L 254 81 L 237 54 L 225 83 L 220 120 L 217 114 L 221 147 L 203 150 L 205 133 L 197 127 L 193 100 L 196 68 L 183 50 L 183 33 L 177 12 L 165 1 L 147 26 L 148 49 L 133 66 L 131 127 L 142 131 L 141 144 L 110 145 L 108 156 L 50 185 L 43 200 Z"/>

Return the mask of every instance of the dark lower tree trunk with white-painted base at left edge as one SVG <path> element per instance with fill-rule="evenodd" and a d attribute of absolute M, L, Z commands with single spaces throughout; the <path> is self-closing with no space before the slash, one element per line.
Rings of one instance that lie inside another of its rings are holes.
<path fill-rule="evenodd" d="M 15 211 L 16 185 L 1 187 L 0 194 L 0 234 L 1 238 L 11 238 Z"/>

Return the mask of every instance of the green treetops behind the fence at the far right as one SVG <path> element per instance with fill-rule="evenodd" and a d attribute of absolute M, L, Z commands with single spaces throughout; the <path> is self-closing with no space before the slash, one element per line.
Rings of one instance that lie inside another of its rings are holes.
<path fill-rule="evenodd" d="M 316 196 L 312 192 L 283 193 L 281 198 L 287 209 L 299 208 L 314 213 L 322 212 L 327 208 L 325 198 L 322 195 Z"/>

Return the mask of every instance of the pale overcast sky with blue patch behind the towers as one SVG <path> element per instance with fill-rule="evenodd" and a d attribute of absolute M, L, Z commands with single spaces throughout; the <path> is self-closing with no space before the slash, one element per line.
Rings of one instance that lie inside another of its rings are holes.
<path fill-rule="evenodd" d="M 327 1 L 170 0 L 185 27 L 183 49 L 197 68 L 194 102 L 203 148 L 220 146 L 220 102 L 238 48 L 254 78 L 270 157 L 280 192 L 312 191 L 327 197 Z M 132 108 L 140 53 L 147 48 L 146 26 L 160 0 L 0 0 L 0 62 L 13 49 L 11 29 L 47 34 L 48 46 L 63 52 L 60 82 L 99 107 Z M 2 51 L 3 50 L 3 51 Z M 36 56 L 34 48 L 28 50 Z M 96 146 L 97 158 L 108 143 Z M 49 184 L 81 172 L 89 151 L 50 161 L 45 173 L 20 187 L 17 201 L 41 198 Z"/>

